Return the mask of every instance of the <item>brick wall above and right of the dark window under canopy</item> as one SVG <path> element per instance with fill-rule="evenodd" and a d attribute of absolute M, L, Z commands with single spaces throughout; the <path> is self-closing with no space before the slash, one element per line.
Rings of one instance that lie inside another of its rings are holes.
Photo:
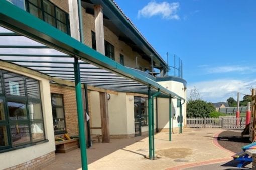
<path fill-rule="evenodd" d="M 72 87 L 51 84 L 51 93 L 63 94 L 66 128 L 70 136 L 78 135 L 75 89 Z"/>

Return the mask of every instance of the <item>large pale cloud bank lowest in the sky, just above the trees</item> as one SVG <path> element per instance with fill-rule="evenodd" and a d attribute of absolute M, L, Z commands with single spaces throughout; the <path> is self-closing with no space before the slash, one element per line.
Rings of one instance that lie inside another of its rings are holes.
<path fill-rule="evenodd" d="M 250 94 L 250 89 L 255 88 L 256 80 L 217 79 L 191 83 L 187 89 L 187 97 L 190 96 L 194 86 L 199 90 L 203 100 L 208 102 L 226 101 L 229 97 L 236 99 L 237 92 Z M 243 96 L 241 96 L 243 97 Z"/>

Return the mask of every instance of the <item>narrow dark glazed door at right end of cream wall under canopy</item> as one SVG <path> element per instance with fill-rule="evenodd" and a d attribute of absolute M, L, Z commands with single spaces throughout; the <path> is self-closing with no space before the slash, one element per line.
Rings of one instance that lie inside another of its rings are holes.
<path fill-rule="evenodd" d="M 135 136 L 141 136 L 141 109 L 140 106 L 141 101 L 140 97 L 134 97 L 134 128 L 135 128 Z"/>

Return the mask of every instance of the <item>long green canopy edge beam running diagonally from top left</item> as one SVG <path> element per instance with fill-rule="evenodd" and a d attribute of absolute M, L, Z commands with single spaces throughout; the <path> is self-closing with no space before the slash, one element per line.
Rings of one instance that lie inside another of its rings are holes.
<path fill-rule="evenodd" d="M 62 51 L 71 56 L 77 56 L 81 60 L 89 62 L 97 67 L 106 69 L 120 76 L 135 80 L 154 89 L 160 89 L 160 92 L 166 95 L 172 95 L 178 99 L 184 98 L 164 88 L 154 80 L 138 74 L 136 71 L 126 68 L 114 60 L 100 54 L 92 48 L 84 45 L 76 39 L 70 37 L 64 32 L 54 28 L 43 20 L 34 17 L 30 13 L 18 8 L 6 0 L 0 0 L 0 25 L 7 29 L 18 32 L 51 48 Z M 5 47 L 5 46 L 2 46 Z M 21 47 L 21 46 L 11 46 Z M 41 46 L 46 48 L 45 46 Z M 28 46 L 24 46 L 28 48 Z M 39 46 L 29 46 L 29 48 L 40 48 Z M 25 66 L 25 65 L 22 65 Z M 26 67 L 26 66 L 25 66 Z M 27 65 L 33 68 L 33 66 Z M 50 67 L 54 68 L 54 67 Z M 58 68 L 58 67 L 55 67 Z M 81 67 L 82 68 L 82 67 Z"/>

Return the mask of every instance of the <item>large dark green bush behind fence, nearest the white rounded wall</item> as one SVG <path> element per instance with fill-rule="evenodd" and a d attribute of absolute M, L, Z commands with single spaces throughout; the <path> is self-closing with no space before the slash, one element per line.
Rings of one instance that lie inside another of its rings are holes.
<path fill-rule="evenodd" d="M 187 102 L 187 117 L 209 117 L 211 112 L 215 111 L 212 103 L 203 100 L 189 100 Z"/>

